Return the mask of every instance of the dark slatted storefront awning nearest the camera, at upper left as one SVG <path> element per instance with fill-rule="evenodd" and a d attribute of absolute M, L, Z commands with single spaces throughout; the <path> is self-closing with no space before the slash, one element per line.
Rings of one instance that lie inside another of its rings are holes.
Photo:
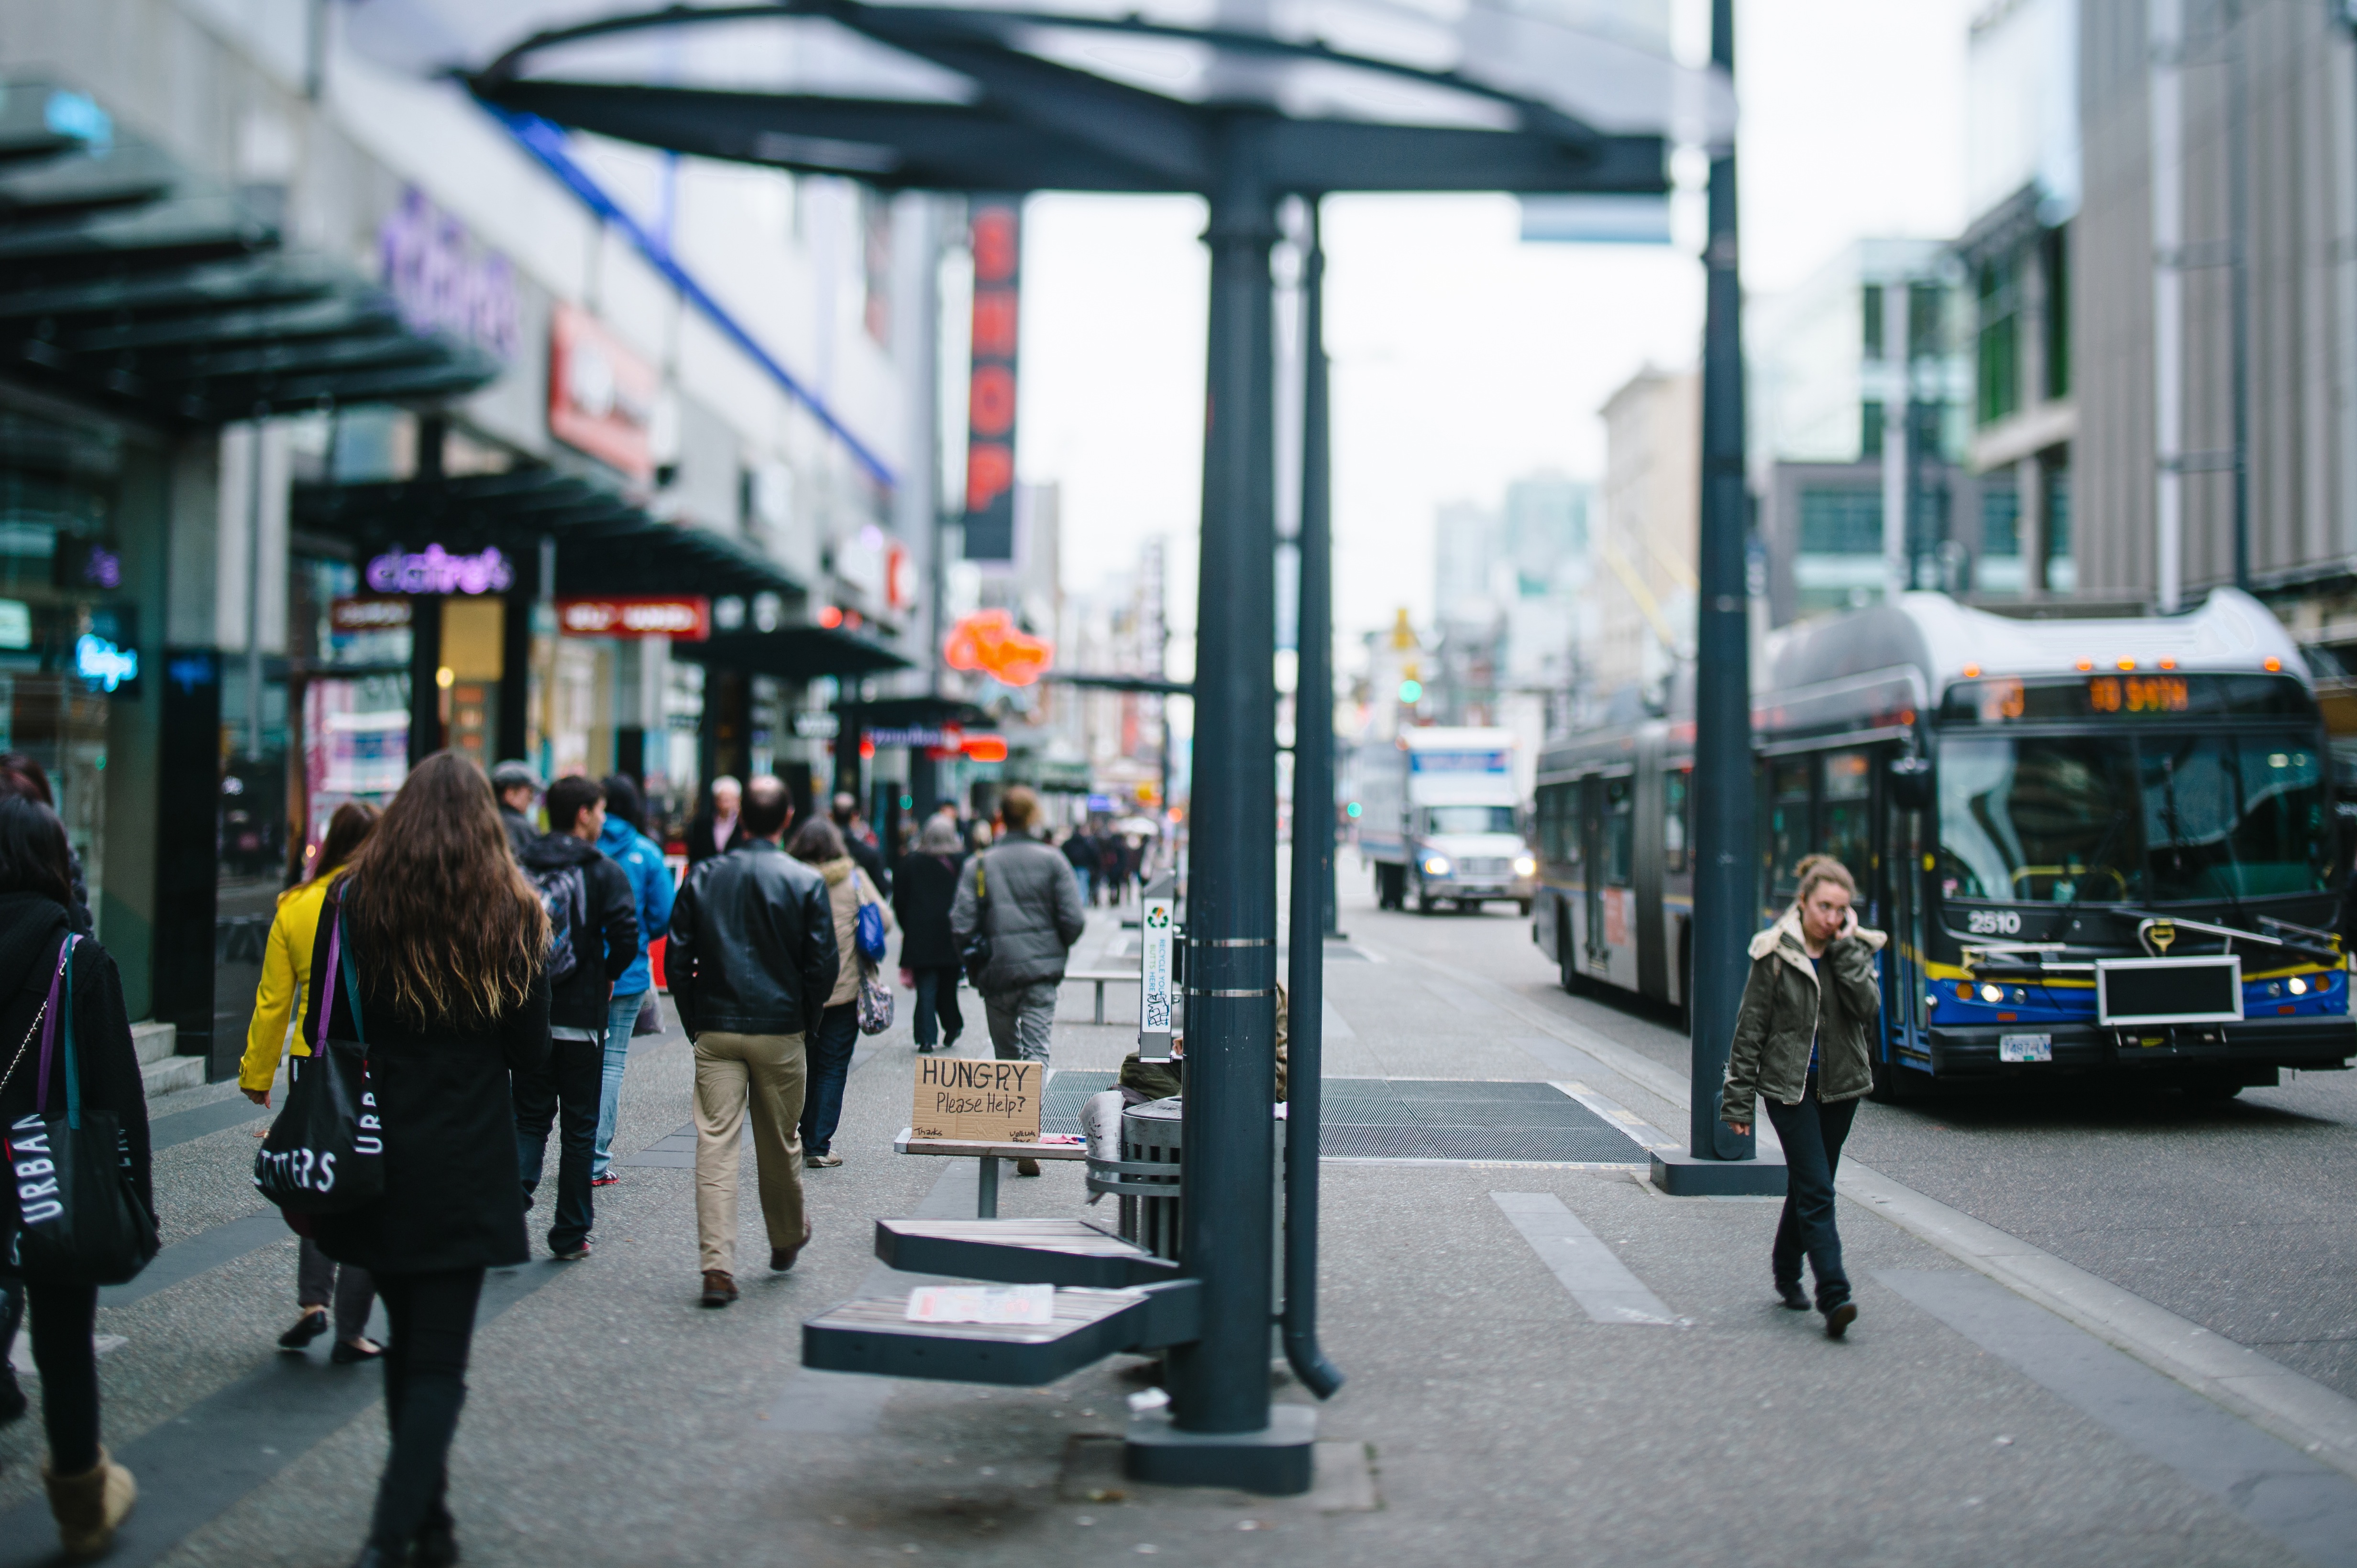
<path fill-rule="evenodd" d="M 236 193 L 90 97 L 0 82 L 0 372 L 160 424 L 438 400 L 500 360 L 280 250 Z"/>

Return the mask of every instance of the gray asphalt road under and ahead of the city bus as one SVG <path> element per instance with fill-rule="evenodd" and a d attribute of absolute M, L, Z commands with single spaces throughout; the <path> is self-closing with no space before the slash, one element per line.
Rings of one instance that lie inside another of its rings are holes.
<path fill-rule="evenodd" d="M 1513 989 L 1688 1069 L 1659 1010 L 1567 996 L 1511 906 L 1374 909 L 1343 852 L 1343 923 L 1400 954 Z M 1332 982 L 1329 982 L 1332 986 Z M 1339 1001 L 1343 1017 L 1348 996 Z M 1681 1132 L 1683 1111 L 1659 1121 Z M 2284 1074 L 2227 1104 L 2133 1085 L 1961 1088 L 1867 1102 L 1850 1151 L 1916 1191 L 2357 1396 L 2357 1074 Z"/>

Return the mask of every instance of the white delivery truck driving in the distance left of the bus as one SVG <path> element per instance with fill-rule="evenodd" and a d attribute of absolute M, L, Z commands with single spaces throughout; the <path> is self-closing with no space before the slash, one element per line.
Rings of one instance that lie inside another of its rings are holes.
<path fill-rule="evenodd" d="M 1530 913 L 1539 864 L 1513 796 L 1513 730 L 1424 727 L 1353 753 L 1358 852 L 1384 909 L 1513 902 Z"/>

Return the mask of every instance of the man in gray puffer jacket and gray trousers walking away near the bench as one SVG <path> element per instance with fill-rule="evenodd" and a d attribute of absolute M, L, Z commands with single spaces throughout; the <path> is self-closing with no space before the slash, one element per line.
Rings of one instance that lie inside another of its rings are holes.
<path fill-rule="evenodd" d="M 1039 796 L 1016 784 L 999 800 L 1006 836 L 966 862 L 950 906 L 950 935 L 964 951 L 981 930 L 990 968 L 976 986 L 990 1017 L 990 1050 L 1002 1062 L 1047 1062 L 1063 961 L 1087 916 L 1072 864 L 1032 836 Z"/>

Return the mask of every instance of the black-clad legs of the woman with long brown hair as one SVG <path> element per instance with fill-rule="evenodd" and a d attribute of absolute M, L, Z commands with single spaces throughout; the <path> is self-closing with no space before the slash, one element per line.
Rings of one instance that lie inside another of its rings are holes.
<path fill-rule="evenodd" d="M 377 1516 L 368 1526 L 368 1540 L 382 1552 L 405 1552 L 417 1526 L 443 1507 L 450 1439 L 457 1434 L 460 1406 L 467 1403 L 474 1304 L 481 1295 L 481 1269 L 377 1276 L 377 1300 L 391 1321 L 384 1342 L 384 1420 L 394 1431 L 394 1453 L 377 1483 Z"/>

